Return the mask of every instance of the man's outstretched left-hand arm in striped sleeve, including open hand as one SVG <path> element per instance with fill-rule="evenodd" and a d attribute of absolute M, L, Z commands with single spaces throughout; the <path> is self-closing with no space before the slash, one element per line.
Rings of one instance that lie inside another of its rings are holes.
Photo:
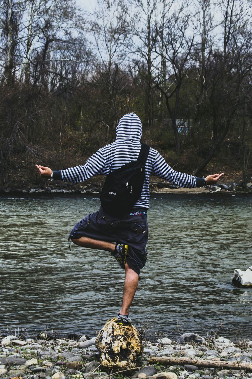
<path fill-rule="evenodd" d="M 46 179 L 50 179 L 53 173 L 54 180 L 63 180 L 64 182 L 79 183 L 90 179 L 92 176 L 103 174 L 105 160 L 103 153 L 98 150 L 81 166 L 70 167 L 66 170 L 53 171 L 49 167 L 38 166 L 39 174 Z"/>

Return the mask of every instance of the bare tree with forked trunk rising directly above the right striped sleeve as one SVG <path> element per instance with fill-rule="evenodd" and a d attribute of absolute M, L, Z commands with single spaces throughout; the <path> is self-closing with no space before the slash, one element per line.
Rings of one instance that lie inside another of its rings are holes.
<path fill-rule="evenodd" d="M 166 108 L 176 141 L 176 151 L 180 155 L 180 138 L 177 128 L 179 116 L 180 89 L 190 68 L 189 59 L 194 43 L 194 31 L 190 33 L 190 13 L 188 2 L 178 10 L 173 2 L 163 2 L 161 23 L 156 24 L 156 53 L 160 56 L 157 67 L 156 86 L 165 97 Z M 189 34 L 190 33 L 190 34 Z"/>

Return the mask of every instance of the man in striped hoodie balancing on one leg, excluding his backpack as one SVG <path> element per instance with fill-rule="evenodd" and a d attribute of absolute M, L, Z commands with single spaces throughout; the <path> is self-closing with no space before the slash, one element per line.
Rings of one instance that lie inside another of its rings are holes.
<path fill-rule="evenodd" d="M 116 134 L 115 142 L 101 147 L 86 164 L 59 171 L 52 171 L 37 164 L 36 167 L 43 178 L 72 183 L 82 182 L 94 175 L 108 175 L 125 164 L 138 160 L 142 146 L 140 143 L 142 124 L 139 117 L 135 113 L 125 114 L 119 121 Z M 120 217 L 111 216 L 101 207 L 97 212 L 79 221 L 71 230 L 68 239 L 69 246 L 72 240 L 81 247 L 109 251 L 125 270 L 123 302 L 117 318 L 117 323 L 124 326 L 131 324 L 129 307 L 137 289 L 140 270 L 145 266 L 147 258 L 145 247 L 148 241 L 150 175 L 156 175 L 180 187 L 215 184 L 224 175 L 222 173 L 197 178 L 174 171 L 152 147 L 149 148 L 144 168 L 142 193 L 128 214 Z M 118 211 L 120 213 L 120 210 Z"/>

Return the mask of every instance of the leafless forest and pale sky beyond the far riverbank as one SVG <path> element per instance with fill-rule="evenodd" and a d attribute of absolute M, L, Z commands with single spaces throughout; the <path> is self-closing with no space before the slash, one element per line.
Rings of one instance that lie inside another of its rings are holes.
<path fill-rule="evenodd" d="M 175 169 L 251 181 L 249 0 L 2 0 L 0 186 L 85 162 L 134 111 Z"/>

